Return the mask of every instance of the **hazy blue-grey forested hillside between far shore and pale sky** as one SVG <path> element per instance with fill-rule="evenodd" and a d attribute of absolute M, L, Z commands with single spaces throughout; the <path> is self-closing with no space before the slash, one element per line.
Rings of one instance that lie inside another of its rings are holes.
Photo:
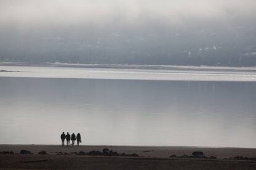
<path fill-rule="evenodd" d="M 8 27 L 0 62 L 256 66 L 256 19 L 104 28 Z"/>

